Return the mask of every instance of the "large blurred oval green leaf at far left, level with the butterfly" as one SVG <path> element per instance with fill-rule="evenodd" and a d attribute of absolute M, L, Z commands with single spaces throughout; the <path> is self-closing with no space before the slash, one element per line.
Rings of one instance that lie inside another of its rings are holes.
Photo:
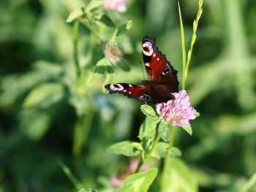
<path fill-rule="evenodd" d="M 56 82 L 47 82 L 34 88 L 23 102 L 23 107 L 48 108 L 64 96 L 64 88 Z"/>

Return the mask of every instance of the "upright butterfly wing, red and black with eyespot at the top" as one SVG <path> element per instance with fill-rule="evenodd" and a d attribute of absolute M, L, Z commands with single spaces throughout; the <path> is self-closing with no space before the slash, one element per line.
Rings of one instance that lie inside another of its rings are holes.
<path fill-rule="evenodd" d="M 148 78 L 167 85 L 172 93 L 178 92 L 177 71 L 173 69 L 165 55 L 158 50 L 154 39 L 143 38 L 142 53 Z"/>

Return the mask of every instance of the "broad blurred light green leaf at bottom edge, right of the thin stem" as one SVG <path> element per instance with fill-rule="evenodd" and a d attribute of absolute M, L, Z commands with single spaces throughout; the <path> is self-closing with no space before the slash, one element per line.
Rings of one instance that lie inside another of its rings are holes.
<path fill-rule="evenodd" d="M 170 158 L 160 192 L 197 192 L 198 186 L 189 167 L 178 158 Z"/>

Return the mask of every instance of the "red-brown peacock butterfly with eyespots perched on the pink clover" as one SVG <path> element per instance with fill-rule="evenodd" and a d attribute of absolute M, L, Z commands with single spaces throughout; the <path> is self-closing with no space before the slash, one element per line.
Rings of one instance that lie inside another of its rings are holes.
<path fill-rule="evenodd" d="M 154 104 L 175 99 L 171 93 L 178 92 L 177 71 L 173 69 L 155 44 L 155 39 L 144 37 L 142 40 L 144 66 L 149 80 L 143 85 L 132 83 L 111 83 L 105 85 L 110 93 L 122 93 L 130 98 Z"/>

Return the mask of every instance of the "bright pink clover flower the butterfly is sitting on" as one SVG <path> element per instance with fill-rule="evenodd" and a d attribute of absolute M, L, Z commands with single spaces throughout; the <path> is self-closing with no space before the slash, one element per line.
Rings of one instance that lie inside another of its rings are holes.
<path fill-rule="evenodd" d="M 173 126 L 189 127 L 189 120 L 195 119 L 196 112 L 193 107 L 190 107 L 189 96 L 185 90 L 172 94 L 175 96 L 175 100 L 156 104 L 159 118 L 170 122 Z"/>

